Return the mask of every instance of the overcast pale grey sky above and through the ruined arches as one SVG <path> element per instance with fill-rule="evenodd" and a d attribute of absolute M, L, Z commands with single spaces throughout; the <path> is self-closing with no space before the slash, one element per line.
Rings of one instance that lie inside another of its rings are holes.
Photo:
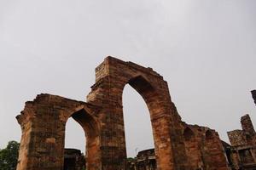
<path fill-rule="evenodd" d="M 0 0 L 0 148 L 20 140 L 15 116 L 37 94 L 84 100 L 112 55 L 169 83 L 183 121 L 226 131 L 256 107 L 256 2 L 251 0 Z M 128 156 L 153 147 L 142 97 L 124 91 Z M 84 150 L 70 119 L 67 147 Z"/>

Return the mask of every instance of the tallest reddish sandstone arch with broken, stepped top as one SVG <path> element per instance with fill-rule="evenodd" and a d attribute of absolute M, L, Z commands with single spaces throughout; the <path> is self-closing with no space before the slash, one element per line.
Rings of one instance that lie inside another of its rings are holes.
<path fill-rule="evenodd" d="M 87 96 L 89 103 L 102 105 L 106 117 L 102 117 L 102 129 L 114 134 L 102 136 L 105 150 L 102 160 L 108 170 L 125 169 L 125 128 L 122 94 L 130 84 L 143 97 L 150 113 L 154 135 L 157 167 L 159 170 L 184 168 L 187 165 L 182 138 L 181 118 L 173 105 L 167 82 L 151 68 L 108 57 L 96 68 L 96 84 Z M 107 118 L 108 118 L 107 117 Z M 108 127 L 105 125 L 108 123 Z M 104 132 L 103 132 L 104 133 Z M 107 132 L 106 132 L 107 133 Z M 174 150 L 174 148 L 179 150 Z"/>

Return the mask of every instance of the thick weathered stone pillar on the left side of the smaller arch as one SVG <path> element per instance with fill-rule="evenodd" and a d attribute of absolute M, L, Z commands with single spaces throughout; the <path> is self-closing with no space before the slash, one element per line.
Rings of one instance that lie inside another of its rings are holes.
<path fill-rule="evenodd" d="M 56 110 L 27 102 L 17 119 L 22 129 L 17 170 L 63 168 L 65 122 L 58 122 Z"/>

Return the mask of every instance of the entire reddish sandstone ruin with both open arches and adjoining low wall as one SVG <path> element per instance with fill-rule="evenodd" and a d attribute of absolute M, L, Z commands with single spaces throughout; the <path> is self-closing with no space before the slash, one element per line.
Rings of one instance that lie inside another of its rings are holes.
<path fill-rule="evenodd" d="M 17 170 L 61 170 L 70 117 L 86 135 L 86 169 L 127 169 L 122 94 L 130 84 L 148 105 L 157 169 L 229 169 L 218 133 L 181 121 L 167 82 L 151 68 L 108 57 L 96 67 L 86 102 L 39 94 L 17 116 L 22 129 Z"/>

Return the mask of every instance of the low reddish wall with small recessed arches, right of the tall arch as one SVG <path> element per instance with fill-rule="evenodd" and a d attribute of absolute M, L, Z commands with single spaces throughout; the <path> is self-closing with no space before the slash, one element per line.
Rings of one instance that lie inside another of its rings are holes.
<path fill-rule="evenodd" d="M 218 133 L 208 127 L 183 123 L 185 149 L 191 169 L 229 169 Z"/>

